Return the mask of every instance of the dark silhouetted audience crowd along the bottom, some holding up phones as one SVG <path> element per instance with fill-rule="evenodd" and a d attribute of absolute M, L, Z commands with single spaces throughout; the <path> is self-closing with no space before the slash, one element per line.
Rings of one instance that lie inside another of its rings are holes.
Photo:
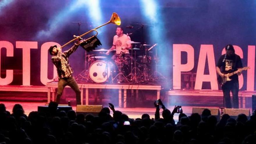
<path fill-rule="evenodd" d="M 236 119 L 224 114 L 218 121 L 209 109 L 187 116 L 178 106 L 172 112 L 166 109 L 160 99 L 154 106 L 155 118 L 145 113 L 131 119 L 111 103 L 98 115 L 59 111 L 56 102 L 47 112 L 29 115 L 20 104 L 11 113 L 0 104 L 0 144 L 256 144 L 255 113 Z"/>

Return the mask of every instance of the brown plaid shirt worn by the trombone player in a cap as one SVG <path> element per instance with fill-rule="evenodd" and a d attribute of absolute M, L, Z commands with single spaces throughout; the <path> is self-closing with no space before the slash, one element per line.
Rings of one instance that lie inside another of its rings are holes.
<path fill-rule="evenodd" d="M 77 50 L 79 45 L 74 45 L 69 50 L 62 52 L 58 51 L 56 56 L 51 57 L 52 63 L 56 66 L 58 78 L 68 78 L 72 76 L 73 70 L 68 63 L 68 57 Z"/>

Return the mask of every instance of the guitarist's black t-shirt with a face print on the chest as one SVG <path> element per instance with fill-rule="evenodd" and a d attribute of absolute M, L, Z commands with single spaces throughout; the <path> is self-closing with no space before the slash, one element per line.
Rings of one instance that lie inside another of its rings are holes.
<path fill-rule="evenodd" d="M 226 57 L 226 60 L 223 62 L 223 59 L 225 58 L 225 54 L 222 55 L 217 63 L 217 67 L 221 69 L 221 72 L 224 73 L 230 73 L 237 70 L 237 68 L 242 68 L 242 61 L 239 55 L 234 54 L 234 56 Z M 232 80 L 238 80 L 238 75 L 234 74 L 230 77 Z"/>

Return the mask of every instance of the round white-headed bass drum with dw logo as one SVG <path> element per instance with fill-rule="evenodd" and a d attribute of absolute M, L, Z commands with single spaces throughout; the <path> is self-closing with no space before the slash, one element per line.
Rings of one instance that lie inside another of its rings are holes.
<path fill-rule="evenodd" d="M 111 62 L 95 61 L 89 67 L 89 76 L 96 83 L 104 83 L 109 79 L 113 67 Z"/>

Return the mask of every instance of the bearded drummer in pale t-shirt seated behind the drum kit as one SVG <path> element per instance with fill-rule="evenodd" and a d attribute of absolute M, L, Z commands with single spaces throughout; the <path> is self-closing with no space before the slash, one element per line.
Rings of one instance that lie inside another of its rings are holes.
<path fill-rule="evenodd" d="M 117 55 L 125 54 L 125 57 L 129 57 L 129 49 L 131 49 L 132 45 L 130 43 L 131 38 L 126 34 L 123 34 L 123 28 L 118 26 L 116 28 L 116 35 L 113 38 L 112 47 L 106 52 L 106 55 L 109 55 L 111 50 L 116 49 L 116 54 L 112 56 L 112 60 L 115 60 Z"/>

